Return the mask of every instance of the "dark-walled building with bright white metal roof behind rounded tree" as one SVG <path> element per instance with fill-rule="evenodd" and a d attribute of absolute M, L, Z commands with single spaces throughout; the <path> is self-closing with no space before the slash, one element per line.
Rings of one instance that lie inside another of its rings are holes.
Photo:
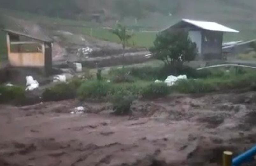
<path fill-rule="evenodd" d="M 239 33 L 216 22 L 182 19 L 162 32 L 184 30 L 198 48 L 198 59 L 222 59 L 222 42 L 225 32 Z"/>

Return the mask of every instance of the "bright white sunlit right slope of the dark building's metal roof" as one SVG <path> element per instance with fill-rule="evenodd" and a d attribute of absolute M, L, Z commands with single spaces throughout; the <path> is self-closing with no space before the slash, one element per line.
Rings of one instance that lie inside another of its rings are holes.
<path fill-rule="evenodd" d="M 216 22 L 207 22 L 207 21 L 197 21 L 197 20 L 189 20 L 189 19 L 182 19 L 184 22 L 188 22 L 192 25 L 195 25 L 199 28 L 211 30 L 211 31 L 221 31 L 221 32 L 235 32 L 238 33 L 239 31 L 235 29 L 231 29 L 224 25 L 218 24 Z"/>

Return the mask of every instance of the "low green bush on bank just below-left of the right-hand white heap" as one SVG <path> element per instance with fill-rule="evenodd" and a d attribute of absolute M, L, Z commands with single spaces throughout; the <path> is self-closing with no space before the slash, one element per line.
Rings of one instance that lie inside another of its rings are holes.
<path fill-rule="evenodd" d="M 167 96 L 170 93 L 170 88 L 166 83 L 151 83 L 142 90 L 144 98 L 158 98 Z"/>

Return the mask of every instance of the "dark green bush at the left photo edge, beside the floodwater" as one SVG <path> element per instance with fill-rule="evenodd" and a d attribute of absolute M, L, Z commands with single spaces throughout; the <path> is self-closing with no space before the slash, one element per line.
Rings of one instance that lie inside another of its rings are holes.
<path fill-rule="evenodd" d="M 20 86 L 0 86 L 0 103 L 22 103 L 25 89 Z"/>

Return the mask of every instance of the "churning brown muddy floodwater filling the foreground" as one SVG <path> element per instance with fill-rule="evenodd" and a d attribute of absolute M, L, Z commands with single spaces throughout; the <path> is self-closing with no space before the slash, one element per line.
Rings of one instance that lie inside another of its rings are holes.
<path fill-rule="evenodd" d="M 130 116 L 76 100 L 0 105 L 0 165 L 218 165 L 255 144 L 256 93 L 137 101 Z M 85 114 L 72 115 L 76 106 Z"/>

